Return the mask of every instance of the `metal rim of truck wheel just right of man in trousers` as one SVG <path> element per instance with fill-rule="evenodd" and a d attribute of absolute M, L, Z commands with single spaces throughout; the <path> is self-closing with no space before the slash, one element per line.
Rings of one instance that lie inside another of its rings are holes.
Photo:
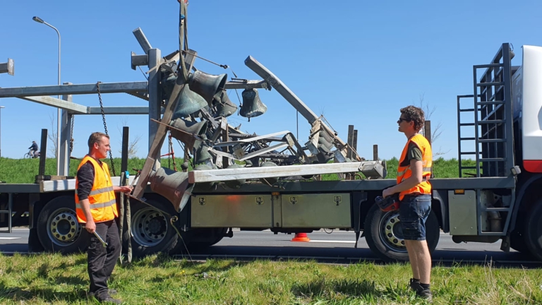
<path fill-rule="evenodd" d="M 138 210 L 132 217 L 133 239 L 141 246 L 156 246 L 167 233 L 167 220 L 154 208 Z"/>

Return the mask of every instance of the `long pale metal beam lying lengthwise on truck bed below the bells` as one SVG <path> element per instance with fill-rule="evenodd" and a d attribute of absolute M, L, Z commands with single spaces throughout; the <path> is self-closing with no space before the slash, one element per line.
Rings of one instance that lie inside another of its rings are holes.
<path fill-rule="evenodd" d="M 317 165 L 285 165 L 279 167 L 243 167 L 236 169 L 209 169 L 188 172 L 188 183 L 260 179 L 273 177 L 305 176 L 359 172 L 366 164 L 375 162 L 327 163 Z"/>

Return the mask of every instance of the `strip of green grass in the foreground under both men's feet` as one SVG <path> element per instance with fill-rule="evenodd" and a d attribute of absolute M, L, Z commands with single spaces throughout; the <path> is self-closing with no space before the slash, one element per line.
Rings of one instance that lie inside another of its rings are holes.
<path fill-rule="evenodd" d="M 203 273 L 208 277 L 204 278 Z M 109 287 L 126 304 L 424 304 L 407 289 L 408 264 L 174 261 L 117 265 Z M 434 304 L 541 304 L 540 270 L 433 268 Z M 86 256 L 0 256 L 0 304 L 95 304 Z M 90 303 L 89 303 L 90 302 Z"/>

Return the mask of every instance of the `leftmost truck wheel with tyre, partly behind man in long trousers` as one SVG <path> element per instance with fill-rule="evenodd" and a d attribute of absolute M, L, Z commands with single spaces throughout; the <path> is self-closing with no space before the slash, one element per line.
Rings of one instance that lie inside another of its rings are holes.
<path fill-rule="evenodd" d="M 49 201 L 37 218 L 37 237 L 45 251 L 74 253 L 85 251 L 87 234 L 77 222 L 73 196 L 60 196 Z"/>

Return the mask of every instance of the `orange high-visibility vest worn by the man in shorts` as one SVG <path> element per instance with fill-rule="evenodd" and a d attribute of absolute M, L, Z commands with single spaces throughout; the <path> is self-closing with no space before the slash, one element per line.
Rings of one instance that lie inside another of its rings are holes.
<path fill-rule="evenodd" d="M 429 183 L 429 177 L 431 175 L 431 167 L 433 166 L 433 151 L 431 150 L 431 145 L 428 140 L 423 137 L 421 134 L 416 133 L 416 135 L 409 138 L 404 145 L 403 152 L 401 154 L 401 159 L 399 159 L 399 167 L 397 167 L 397 184 L 400 184 L 402 181 L 412 176 L 412 170 L 410 168 L 410 162 L 406 160 L 406 152 L 409 151 L 409 145 L 411 142 L 414 142 L 418 148 L 421 150 L 421 163 L 423 167 L 422 172 L 422 181 L 420 184 L 414 186 L 412 189 L 402 191 L 399 193 L 399 200 L 402 201 L 404 196 L 411 193 L 421 193 L 421 194 L 430 194 L 431 193 L 431 184 Z M 408 162 L 408 165 L 401 166 L 403 162 Z"/>

